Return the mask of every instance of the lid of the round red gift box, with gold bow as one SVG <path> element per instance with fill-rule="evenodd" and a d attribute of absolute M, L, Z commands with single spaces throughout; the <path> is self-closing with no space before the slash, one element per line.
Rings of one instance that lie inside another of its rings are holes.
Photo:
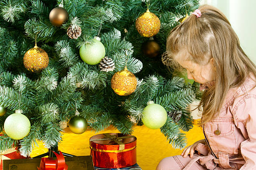
<path fill-rule="evenodd" d="M 90 138 L 91 149 L 97 150 L 124 150 L 136 148 L 137 138 L 123 133 L 104 133 Z"/>

